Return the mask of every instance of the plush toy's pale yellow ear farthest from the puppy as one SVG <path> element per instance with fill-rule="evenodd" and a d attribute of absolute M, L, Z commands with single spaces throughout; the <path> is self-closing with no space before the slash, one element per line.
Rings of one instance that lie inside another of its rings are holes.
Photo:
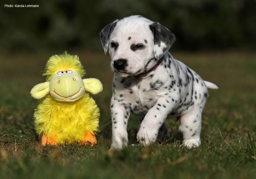
<path fill-rule="evenodd" d="M 48 93 L 50 93 L 50 81 L 43 82 L 41 84 L 35 85 L 31 89 L 31 95 L 35 99 L 41 99 L 44 98 Z"/>

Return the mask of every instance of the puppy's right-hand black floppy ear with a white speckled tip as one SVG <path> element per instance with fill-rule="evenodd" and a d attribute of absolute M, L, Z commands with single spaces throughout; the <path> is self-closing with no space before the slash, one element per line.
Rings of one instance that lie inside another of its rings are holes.
<path fill-rule="evenodd" d="M 175 41 L 174 34 L 158 22 L 149 25 L 154 34 L 154 54 L 156 59 L 160 59 L 172 46 Z"/>

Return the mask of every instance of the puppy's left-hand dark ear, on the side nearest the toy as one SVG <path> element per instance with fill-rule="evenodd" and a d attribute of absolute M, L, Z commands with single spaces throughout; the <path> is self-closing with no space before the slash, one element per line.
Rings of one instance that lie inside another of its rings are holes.
<path fill-rule="evenodd" d="M 118 21 L 119 20 L 115 20 L 114 22 L 111 22 L 110 24 L 106 25 L 106 27 L 100 31 L 100 40 L 101 40 L 101 44 L 102 44 L 105 54 L 107 53 L 107 50 L 108 50 L 109 37 L 110 37 L 113 29 L 115 28 L 115 25 L 117 25 Z"/>

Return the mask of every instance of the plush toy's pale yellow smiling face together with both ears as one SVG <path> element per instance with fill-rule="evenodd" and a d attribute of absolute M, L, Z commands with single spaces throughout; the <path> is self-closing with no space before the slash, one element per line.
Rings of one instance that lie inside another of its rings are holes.
<path fill-rule="evenodd" d="M 69 68 L 59 69 L 52 74 L 50 81 L 35 85 L 31 89 L 31 95 L 35 99 L 41 99 L 50 93 L 57 101 L 73 102 L 82 98 L 85 91 L 92 94 L 101 92 L 100 80 L 82 79 L 74 69 Z"/>

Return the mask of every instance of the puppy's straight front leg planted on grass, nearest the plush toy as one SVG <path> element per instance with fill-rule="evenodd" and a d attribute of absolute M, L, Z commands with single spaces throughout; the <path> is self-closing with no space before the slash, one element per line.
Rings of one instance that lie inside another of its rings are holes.
<path fill-rule="evenodd" d="M 110 150 L 121 150 L 128 143 L 127 123 L 130 111 L 124 104 L 111 99 L 112 144 Z"/>

